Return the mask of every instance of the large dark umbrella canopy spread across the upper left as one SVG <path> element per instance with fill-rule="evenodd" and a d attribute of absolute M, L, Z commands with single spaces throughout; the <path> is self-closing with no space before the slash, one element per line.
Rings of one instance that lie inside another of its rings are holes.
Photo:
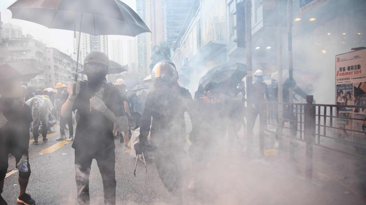
<path fill-rule="evenodd" d="M 8 9 L 13 19 L 91 35 L 150 32 L 137 13 L 119 0 L 18 0 Z"/>

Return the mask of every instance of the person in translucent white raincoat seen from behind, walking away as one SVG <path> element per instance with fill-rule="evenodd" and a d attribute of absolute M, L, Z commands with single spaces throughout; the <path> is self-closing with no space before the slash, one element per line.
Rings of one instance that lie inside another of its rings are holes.
<path fill-rule="evenodd" d="M 53 105 L 51 100 L 43 96 L 42 90 L 37 89 L 34 94 L 36 96 L 30 98 L 26 104 L 32 109 L 32 116 L 33 116 L 33 144 L 38 144 L 38 137 L 39 134 L 39 127 L 40 123 L 42 123 L 41 131 L 43 142 L 47 142 L 47 126 L 48 126 L 48 115 L 51 113 L 53 109 Z"/>

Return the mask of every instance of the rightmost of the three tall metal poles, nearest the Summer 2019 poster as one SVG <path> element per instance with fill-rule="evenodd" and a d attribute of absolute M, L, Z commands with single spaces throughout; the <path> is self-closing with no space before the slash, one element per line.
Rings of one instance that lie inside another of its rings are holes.
<path fill-rule="evenodd" d="M 288 29 L 288 78 L 292 82 L 292 0 L 287 0 L 287 29 Z M 294 102 L 294 88 L 289 88 L 290 103 Z"/>

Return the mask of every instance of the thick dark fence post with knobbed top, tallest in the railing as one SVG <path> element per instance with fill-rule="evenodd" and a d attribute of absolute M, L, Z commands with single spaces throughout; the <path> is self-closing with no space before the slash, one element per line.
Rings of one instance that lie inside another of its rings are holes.
<path fill-rule="evenodd" d="M 313 143 L 315 141 L 315 106 L 313 96 L 306 96 L 304 116 L 304 139 L 306 142 L 305 178 L 307 182 L 313 179 Z"/>

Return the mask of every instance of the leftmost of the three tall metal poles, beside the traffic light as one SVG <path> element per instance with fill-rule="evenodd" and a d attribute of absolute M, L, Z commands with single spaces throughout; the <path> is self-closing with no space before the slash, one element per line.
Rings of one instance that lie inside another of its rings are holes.
<path fill-rule="evenodd" d="M 253 110 L 253 73 L 252 73 L 252 45 L 251 45 L 251 0 L 245 0 L 245 56 L 247 63 L 247 119 L 253 120 L 251 111 Z M 249 115 L 248 115 L 249 114 Z M 254 122 L 253 122 L 254 123 Z M 248 123 L 249 125 L 250 123 Z M 253 151 L 253 128 L 247 126 L 247 155 Z"/>

